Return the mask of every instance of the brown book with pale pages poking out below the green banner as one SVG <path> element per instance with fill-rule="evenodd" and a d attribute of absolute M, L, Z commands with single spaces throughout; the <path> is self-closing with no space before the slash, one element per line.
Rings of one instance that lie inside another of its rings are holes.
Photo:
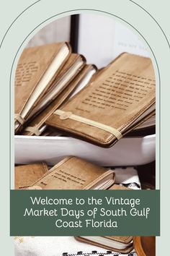
<path fill-rule="evenodd" d="M 129 253 L 133 250 L 133 236 L 76 236 L 76 240 L 115 252 Z"/>

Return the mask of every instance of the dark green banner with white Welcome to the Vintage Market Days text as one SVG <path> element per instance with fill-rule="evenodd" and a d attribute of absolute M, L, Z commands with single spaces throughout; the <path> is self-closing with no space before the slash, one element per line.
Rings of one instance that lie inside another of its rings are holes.
<path fill-rule="evenodd" d="M 158 236 L 159 190 L 11 190 L 11 236 Z"/>

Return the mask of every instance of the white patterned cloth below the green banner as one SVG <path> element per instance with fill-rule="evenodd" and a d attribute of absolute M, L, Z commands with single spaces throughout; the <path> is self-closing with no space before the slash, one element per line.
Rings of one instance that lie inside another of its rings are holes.
<path fill-rule="evenodd" d="M 14 238 L 14 249 L 15 256 L 62 256 L 63 253 L 66 256 L 67 252 L 73 256 L 77 252 L 102 256 L 107 252 L 106 249 L 76 241 L 73 236 L 17 236 Z M 97 251 L 97 254 L 92 254 L 92 251 Z M 117 254 L 112 252 L 112 256 L 114 253 Z"/>

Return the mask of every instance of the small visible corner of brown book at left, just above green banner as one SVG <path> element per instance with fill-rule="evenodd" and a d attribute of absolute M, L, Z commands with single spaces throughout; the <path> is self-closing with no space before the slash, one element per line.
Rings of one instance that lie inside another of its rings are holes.
<path fill-rule="evenodd" d="M 33 163 L 14 168 L 14 189 L 27 189 L 48 171 L 46 163 Z"/>

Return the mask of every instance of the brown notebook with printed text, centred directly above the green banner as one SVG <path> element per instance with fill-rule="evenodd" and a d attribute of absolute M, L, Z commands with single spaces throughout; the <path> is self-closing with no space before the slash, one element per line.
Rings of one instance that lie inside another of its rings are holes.
<path fill-rule="evenodd" d="M 114 181 L 114 171 L 69 156 L 33 183 L 32 189 L 107 189 Z"/>

